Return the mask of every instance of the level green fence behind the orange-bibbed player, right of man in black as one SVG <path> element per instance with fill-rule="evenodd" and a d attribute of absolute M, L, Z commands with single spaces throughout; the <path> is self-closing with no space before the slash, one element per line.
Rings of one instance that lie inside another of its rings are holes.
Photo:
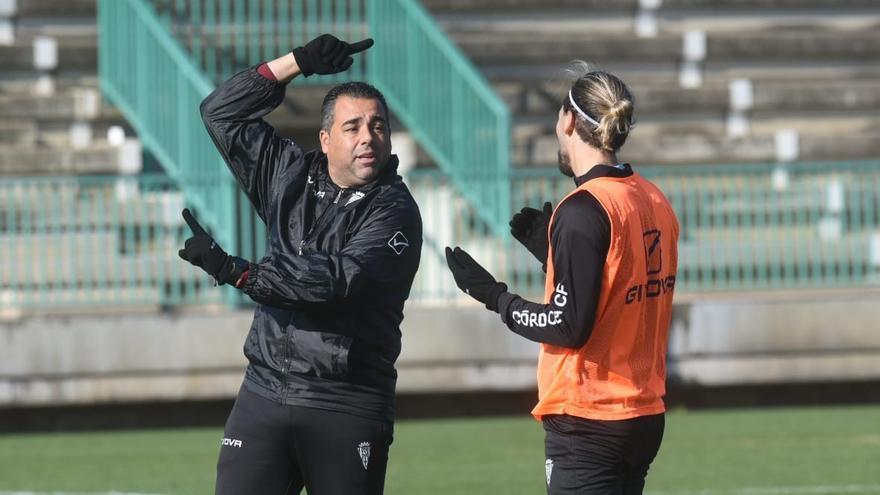
<path fill-rule="evenodd" d="M 833 289 L 880 284 L 880 160 L 731 166 L 639 167 L 681 223 L 676 291 Z M 539 297 L 540 264 L 505 246 L 447 178 L 408 179 L 425 222 L 414 298 L 461 300 L 443 247 L 461 245 L 521 294 Z M 511 208 L 557 204 L 573 189 L 552 169 L 512 174 Z M 509 238 L 510 234 L 506 234 Z"/>

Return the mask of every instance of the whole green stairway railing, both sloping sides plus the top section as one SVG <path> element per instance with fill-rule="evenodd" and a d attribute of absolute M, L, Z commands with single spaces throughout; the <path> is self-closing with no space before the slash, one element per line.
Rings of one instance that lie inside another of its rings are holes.
<path fill-rule="evenodd" d="M 99 0 L 98 6 L 105 94 L 224 246 L 260 257 L 265 230 L 205 134 L 198 103 L 233 71 L 327 31 L 376 38 L 367 52 L 369 72 L 358 57 L 351 71 L 297 84 L 366 74 L 479 206 L 478 215 L 503 232 L 510 204 L 507 108 L 417 2 Z"/>

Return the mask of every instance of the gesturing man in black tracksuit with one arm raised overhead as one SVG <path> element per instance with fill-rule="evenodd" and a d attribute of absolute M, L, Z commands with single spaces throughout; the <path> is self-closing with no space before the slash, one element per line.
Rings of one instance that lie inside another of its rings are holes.
<path fill-rule="evenodd" d="M 307 152 L 263 120 L 291 79 L 341 72 L 371 45 L 322 35 L 236 74 L 202 102 L 208 133 L 269 241 L 259 262 L 229 256 L 184 211 L 194 235 L 181 257 L 258 303 L 218 494 L 383 491 L 399 326 L 422 242 L 391 155 L 387 106 L 367 84 L 333 88 L 321 149 Z"/>

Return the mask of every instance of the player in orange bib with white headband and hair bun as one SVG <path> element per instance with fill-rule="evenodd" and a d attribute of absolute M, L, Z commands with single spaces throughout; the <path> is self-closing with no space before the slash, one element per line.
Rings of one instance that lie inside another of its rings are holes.
<path fill-rule="evenodd" d="M 663 193 L 617 160 L 629 89 L 578 67 L 556 122 L 559 168 L 577 188 L 510 222 L 544 263 L 544 302 L 509 293 L 458 247 L 446 259 L 460 289 L 541 343 L 532 414 L 546 432 L 547 493 L 640 494 L 663 437 L 679 227 Z"/>

